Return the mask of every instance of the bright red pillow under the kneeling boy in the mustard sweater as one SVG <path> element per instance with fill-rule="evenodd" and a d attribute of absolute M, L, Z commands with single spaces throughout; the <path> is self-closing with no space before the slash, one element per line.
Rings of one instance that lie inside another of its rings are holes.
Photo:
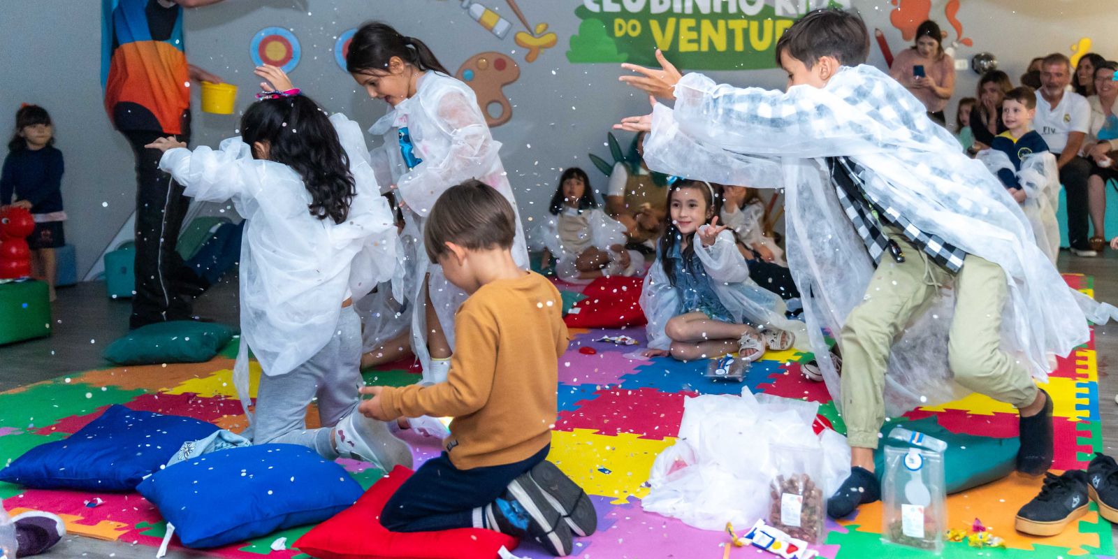
<path fill-rule="evenodd" d="M 386 530 L 380 525 L 380 511 L 410 476 L 410 470 L 396 466 L 353 506 L 303 534 L 295 548 L 320 559 L 493 559 L 501 546 L 517 549 L 517 538 L 481 528 L 409 533 Z"/>

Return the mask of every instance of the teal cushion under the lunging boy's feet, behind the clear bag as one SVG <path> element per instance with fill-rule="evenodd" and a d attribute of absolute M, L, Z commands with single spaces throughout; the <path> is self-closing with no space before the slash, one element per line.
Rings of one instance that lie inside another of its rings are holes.
<path fill-rule="evenodd" d="M 1017 449 L 1021 448 L 1017 437 L 996 438 L 951 433 L 940 426 L 935 416 L 915 421 L 890 421 L 882 433 L 888 435 L 888 429 L 893 427 L 904 427 L 947 443 L 947 451 L 944 453 L 947 493 L 958 493 L 1010 475 L 1016 464 Z M 885 445 L 911 446 L 890 438 L 883 438 L 882 443 L 873 454 L 879 477 L 885 472 Z"/>

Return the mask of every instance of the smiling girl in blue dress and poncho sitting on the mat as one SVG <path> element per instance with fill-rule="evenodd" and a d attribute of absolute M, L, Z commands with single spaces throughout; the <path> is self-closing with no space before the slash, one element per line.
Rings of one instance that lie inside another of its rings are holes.
<path fill-rule="evenodd" d="M 786 319 L 784 301 L 749 278 L 733 234 L 718 225 L 714 189 L 681 180 L 667 197 L 671 220 L 641 292 L 644 354 L 690 361 L 738 352 L 756 361 L 766 348 L 790 348 L 804 324 Z"/>

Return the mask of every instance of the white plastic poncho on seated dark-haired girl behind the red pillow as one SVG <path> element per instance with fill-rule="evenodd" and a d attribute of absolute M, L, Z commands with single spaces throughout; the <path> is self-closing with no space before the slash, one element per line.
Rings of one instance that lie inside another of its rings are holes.
<path fill-rule="evenodd" d="M 562 211 L 569 211 L 568 208 L 563 208 Z M 609 217 L 605 211 L 598 208 L 588 208 L 580 210 L 580 214 L 586 217 L 587 228 L 586 235 L 588 236 L 587 241 L 589 246 L 597 248 L 598 250 L 609 254 L 610 260 L 616 258 L 616 253 L 614 253 L 610 247 L 615 245 L 625 246 L 627 241 L 625 237 L 625 226 L 620 221 Z M 574 284 L 588 284 L 591 280 L 582 280 L 579 277 L 578 268 L 575 266 L 575 260 L 578 258 L 578 252 L 572 250 L 570 247 L 563 246 L 562 236 L 559 234 L 559 219 L 560 216 L 548 215 L 543 222 L 536 227 L 532 235 L 529 238 L 530 248 L 532 250 L 542 250 L 544 248 L 551 253 L 551 256 L 556 258 L 556 275 L 560 280 L 567 283 Z M 636 250 L 628 250 L 629 265 L 627 269 L 638 272 L 644 268 L 644 255 Z"/>

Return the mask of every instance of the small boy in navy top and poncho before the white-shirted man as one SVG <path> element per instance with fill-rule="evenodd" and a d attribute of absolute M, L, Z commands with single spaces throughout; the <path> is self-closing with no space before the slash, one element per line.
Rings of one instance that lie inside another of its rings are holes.
<path fill-rule="evenodd" d="M 1055 264 L 1060 254 L 1060 226 L 1055 208 L 1060 203 L 1060 170 L 1053 155 L 1035 130 L 1036 94 L 1021 86 L 1005 94 L 1002 120 L 1010 130 L 994 138 L 991 149 L 978 153 L 978 161 L 1005 184 L 1021 203 L 1036 237 L 1036 246 Z"/>

